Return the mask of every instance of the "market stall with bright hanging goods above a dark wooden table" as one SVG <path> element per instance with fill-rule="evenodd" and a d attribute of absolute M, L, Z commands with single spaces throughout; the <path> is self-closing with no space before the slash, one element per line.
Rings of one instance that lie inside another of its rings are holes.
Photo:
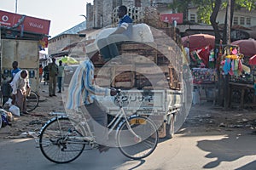
<path fill-rule="evenodd" d="M 240 53 L 240 47 L 229 45 L 224 48 L 221 61 L 223 75 L 229 75 L 229 106 L 239 108 L 253 107 L 255 95 L 253 88 L 253 70 L 248 65 L 244 54 Z"/>

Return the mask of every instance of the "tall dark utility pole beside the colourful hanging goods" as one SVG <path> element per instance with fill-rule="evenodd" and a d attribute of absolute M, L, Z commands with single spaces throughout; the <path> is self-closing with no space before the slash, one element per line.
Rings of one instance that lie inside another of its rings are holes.
<path fill-rule="evenodd" d="M 227 6 L 227 44 L 230 44 L 230 31 L 231 31 L 231 23 L 230 23 L 230 8 L 231 0 L 228 0 L 228 6 Z M 229 47 L 229 45 L 227 46 Z M 227 110 L 229 107 L 229 82 L 230 82 L 230 75 L 229 73 L 227 75 L 224 75 L 224 109 Z"/>

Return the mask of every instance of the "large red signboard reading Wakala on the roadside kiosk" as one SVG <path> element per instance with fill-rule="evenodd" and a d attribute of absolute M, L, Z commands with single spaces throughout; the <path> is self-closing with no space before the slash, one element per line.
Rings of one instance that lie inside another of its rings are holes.
<path fill-rule="evenodd" d="M 23 22 L 20 22 L 23 20 Z M 18 26 L 18 23 L 20 25 Z M 14 14 L 0 10 L 0 25 L 7 27 L 15 27 L 18 31 L 28 31 L 39 34 L 49 35 L 50 20 L 43 20 L 26 16 L 22 14 Z"/>

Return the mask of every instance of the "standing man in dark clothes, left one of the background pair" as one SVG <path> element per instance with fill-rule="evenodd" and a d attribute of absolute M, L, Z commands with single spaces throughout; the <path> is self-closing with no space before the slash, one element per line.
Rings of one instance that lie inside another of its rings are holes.
<path fill-rule="evenodd" d="M 52 58 L 52 62 L 49 63 L 49 97 L 56 96 L 56 83 L 58 76 L 58 65 L 55 64 L 56 59 Z"/>

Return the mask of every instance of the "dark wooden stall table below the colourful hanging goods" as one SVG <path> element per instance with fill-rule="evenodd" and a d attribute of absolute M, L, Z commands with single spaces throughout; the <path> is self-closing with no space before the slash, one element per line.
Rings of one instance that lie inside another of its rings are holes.
<path fill-rule="evenodd" d="M 240 96 L 240 108 L 244 108 L 245 106 L 251 106 L 256 107 L 256 95 L 253 94 L 253 103 L 244 103 L 244 97 L 246 90 L 250 90 L 253 88 L 253 84 L 244 84 L 244 83 L 238 83 L 238 82 L 230 82 L 230 88 L 229 88 L 229 104 L 231 106 L 231 97 L 232 92 L 234 89 L 241 90 L 241 96 Z"/>

